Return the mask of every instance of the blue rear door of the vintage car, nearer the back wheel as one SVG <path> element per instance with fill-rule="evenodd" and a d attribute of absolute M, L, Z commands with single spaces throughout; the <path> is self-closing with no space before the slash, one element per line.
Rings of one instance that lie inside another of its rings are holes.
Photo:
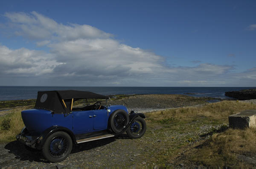
<path fill-rule="evenodd" d="M 75 134 L 93 131 L 93 111 L 73 111 L 73 132 Z"/>

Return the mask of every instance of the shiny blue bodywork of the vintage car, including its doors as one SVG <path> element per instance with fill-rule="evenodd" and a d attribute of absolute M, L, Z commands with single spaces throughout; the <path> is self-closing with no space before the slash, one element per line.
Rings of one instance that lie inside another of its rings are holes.
<path fill-rule="evenodd" d="M 31 135 L 41 135 L 52 126 L 66 127 L 75 135 L 108 129 L 108 118 L 115 110 L 128 110 L 125 106 L 109 106 L 101 110 L 73 111 L 70 114 L 55 114 L 44 109 L 21 112 L 22 119 Z"/>

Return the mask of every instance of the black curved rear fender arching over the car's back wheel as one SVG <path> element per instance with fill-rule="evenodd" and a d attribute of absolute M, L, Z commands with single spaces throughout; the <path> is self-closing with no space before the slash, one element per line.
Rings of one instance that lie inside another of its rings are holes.
<path fill-rule="evenodd" d="M 58 131 L 63 131 L 63 132 L 67 132 L 67 134 L 70 135 L 73 143 L 76 143 L 76 137 L 74 135 L 74 133 L 69 130 L 66 127 L 62 127 L 62 126 L 52 126 L 49 127 L 47 130 L 44 130 L 44 132 L 39 136 L 38 138 L 38 144 L 36 146 L 37 149 L 42 149 L 42 147 L 44 146 L 44 143 L 46 141 L 46 139 L 54 132 L 58 132 Z"/>

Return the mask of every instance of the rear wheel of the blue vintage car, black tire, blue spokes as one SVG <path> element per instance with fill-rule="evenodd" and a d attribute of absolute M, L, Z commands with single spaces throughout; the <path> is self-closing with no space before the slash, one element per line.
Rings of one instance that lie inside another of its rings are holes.
<path fill-rule="evenodd" d="M 67 158 L 72 146 L 72 139 L 67 132 L 54 132 L 46 139 L 42 152 L 48 161 L 55 163 Z"/>

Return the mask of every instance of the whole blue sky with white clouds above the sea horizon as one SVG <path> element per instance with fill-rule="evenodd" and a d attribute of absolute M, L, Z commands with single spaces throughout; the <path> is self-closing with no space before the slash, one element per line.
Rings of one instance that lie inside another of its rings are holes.
<path fill-rule="evenodd" d="M 0 1 L 0 86 L 256 87 L 254 0 Z"/>

